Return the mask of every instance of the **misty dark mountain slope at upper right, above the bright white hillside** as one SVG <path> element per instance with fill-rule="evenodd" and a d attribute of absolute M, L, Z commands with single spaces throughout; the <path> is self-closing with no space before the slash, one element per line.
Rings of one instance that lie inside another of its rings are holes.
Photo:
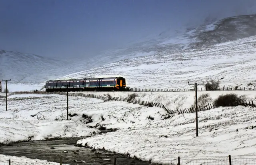
<path fill-rule="evenodd" d="M 165 49 L 194 49 L 253 35 L 256 35 L 256 14 L 233 16 L 218 21 L 212 19 L 201 26 L 184 26 L 178 30 L 168 29 L 157 36 L 122 47 L 119 51 L 109 50 L 108 54 L 115 56 L 129 55 L 138 51 L 161 52 Z"/>

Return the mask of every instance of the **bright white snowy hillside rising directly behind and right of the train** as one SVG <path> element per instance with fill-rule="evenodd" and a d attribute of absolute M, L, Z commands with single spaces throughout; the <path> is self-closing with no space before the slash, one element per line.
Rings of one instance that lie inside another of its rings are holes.
<path fill-rule="evenodd" d="M 165 50 L 155 55 L 118 61 L 102 67 L 73 73 L 60 79 L 81 77 L 126 78 L 130 87 L 190 88 L 189 82 L 202 83 L 220 79 L 220 87 L 248 88 L 256 81 L 256 36 L 222 44 L 171 53 Z"/>

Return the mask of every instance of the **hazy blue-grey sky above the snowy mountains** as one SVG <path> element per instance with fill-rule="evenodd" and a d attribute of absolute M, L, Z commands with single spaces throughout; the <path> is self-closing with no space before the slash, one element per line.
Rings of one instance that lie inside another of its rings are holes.
<path fill-rule="evenodd" d="M 0 49 L 88 57 L 208 16 L 254 14 L 254 1 L 0 0 Z"/>

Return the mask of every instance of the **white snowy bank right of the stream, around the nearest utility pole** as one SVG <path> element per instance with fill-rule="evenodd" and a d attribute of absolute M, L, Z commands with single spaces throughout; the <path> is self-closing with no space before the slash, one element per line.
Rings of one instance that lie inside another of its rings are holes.
<path fill-rule="evenodd" d="M 77 141 L 77 145 L 105 149 L 158 162 L 171 157 L 256 154 L 256 108 L 226 107 L 195 114 L 155 119 L 150 126 L 134 127 Z"/>

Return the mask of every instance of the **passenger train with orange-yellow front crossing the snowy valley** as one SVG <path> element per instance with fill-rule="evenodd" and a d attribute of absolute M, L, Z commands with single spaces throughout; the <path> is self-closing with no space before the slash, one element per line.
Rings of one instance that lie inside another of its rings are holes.
<path fill-rule="evenodd" d="M 120 91 L 126 90 L 124 77 L 83 78 L 49 80 L 45 83 L 46 92 L 62 91 Z"/>

